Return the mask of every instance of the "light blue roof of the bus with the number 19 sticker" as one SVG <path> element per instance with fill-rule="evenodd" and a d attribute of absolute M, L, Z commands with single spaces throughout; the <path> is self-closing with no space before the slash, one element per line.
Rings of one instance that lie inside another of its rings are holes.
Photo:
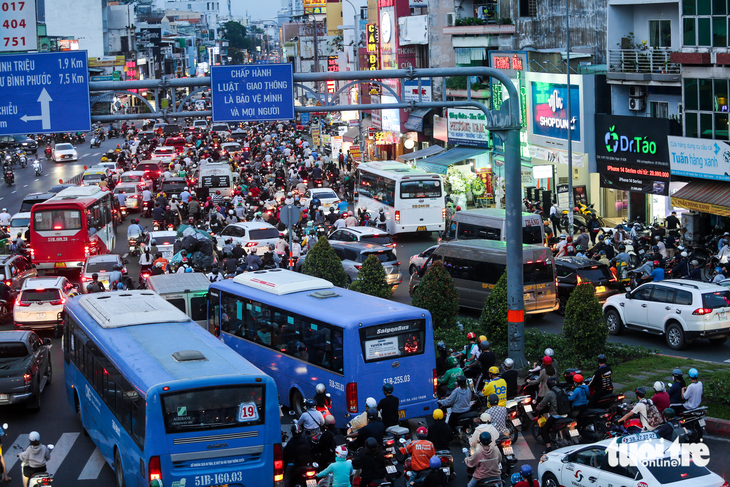
<path fill-rule="evenodd" d="M 164 301 L 149 291 L 89 296 L 107 297 L 111 304 L 102 306 L 111 309 L 117 301 L 138 304 L 142 294 Z M 87 335 L 117 368 L 120 368 L 121 357 L 124 357 L 128 364 L 124 367 L 125 377 L 145 395 L 157 384 L 177 380 L 242 375 L 265 377 L 261 370 L 172 305 L 165 308 L 168 318 L 157 323 L 104 329 L 84 308 L 82 300 L 85 297 L 68 300 L 66 310 L 77 322 L 84 324 Z M 175 321 L 181 314 L 186 319 Z"/>

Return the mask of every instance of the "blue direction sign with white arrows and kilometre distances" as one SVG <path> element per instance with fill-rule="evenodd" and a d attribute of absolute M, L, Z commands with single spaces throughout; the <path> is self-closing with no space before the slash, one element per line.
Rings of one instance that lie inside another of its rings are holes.
<path fill-rule="evenodd" d="M 86 51 L 0 57 L 0 134 L 89 130 Z"/>

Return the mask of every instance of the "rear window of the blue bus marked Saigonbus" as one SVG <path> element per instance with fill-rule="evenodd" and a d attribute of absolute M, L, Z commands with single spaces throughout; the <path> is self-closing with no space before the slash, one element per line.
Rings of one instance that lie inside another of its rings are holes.
<path fill-rule="evenodd" d="M 426 321 L 397 321 L 360 330 L 365 363 L 421 355 L 426 345 Z"/>

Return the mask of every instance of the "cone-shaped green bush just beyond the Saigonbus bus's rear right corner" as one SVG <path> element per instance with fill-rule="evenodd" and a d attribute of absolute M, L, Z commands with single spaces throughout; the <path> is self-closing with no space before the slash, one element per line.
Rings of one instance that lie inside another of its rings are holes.
<path fill-rule="evenodd" d="M 456 324 L 459 293 L 441 261 L 435 261 L 426 271 L 413 293 L 411 304 L 431 313 L 434 328 L 449 328 Z"/>

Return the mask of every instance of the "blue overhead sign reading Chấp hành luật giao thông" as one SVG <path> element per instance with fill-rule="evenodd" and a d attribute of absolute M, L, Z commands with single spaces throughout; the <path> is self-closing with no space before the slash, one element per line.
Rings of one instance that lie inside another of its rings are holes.
<path fill-rule="evenodd" d="M 291 64 L 237 64 L 210 69 L 214 122 L 294 119 Z"/>

